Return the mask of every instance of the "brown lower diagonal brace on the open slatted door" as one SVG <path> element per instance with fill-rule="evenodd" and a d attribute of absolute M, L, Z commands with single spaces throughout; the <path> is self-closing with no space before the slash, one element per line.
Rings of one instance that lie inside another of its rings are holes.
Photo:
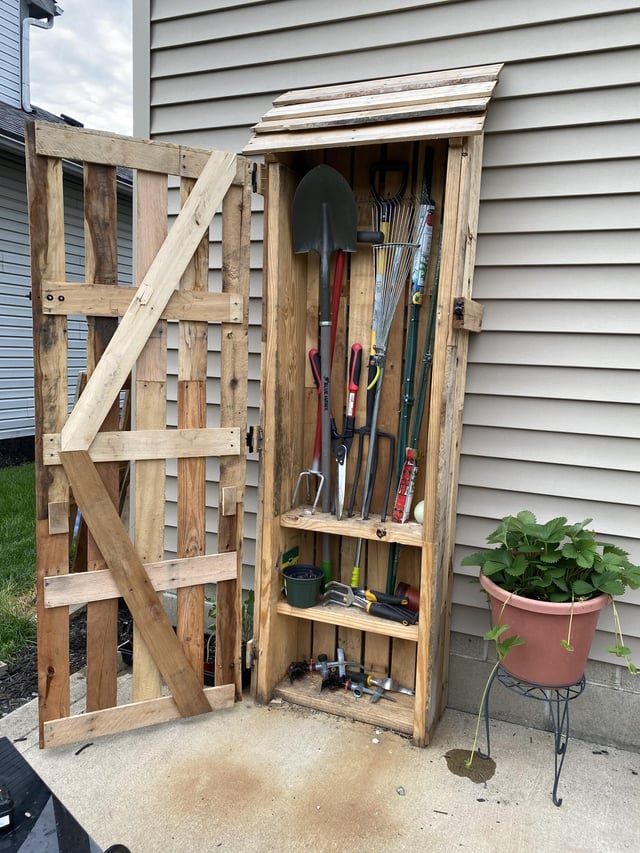
<path fill-rule="evenodd" d="M 78 506 L 181 715 L 205 713 L 210 708 L 201 685 L 89 454 L 76 450 L 61 456 Z"/>

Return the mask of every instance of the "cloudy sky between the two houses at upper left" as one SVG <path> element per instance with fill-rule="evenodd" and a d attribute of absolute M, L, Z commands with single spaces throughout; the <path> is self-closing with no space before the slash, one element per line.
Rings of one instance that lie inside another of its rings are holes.
<path fill-rule="evenodd" d="M 31 27 L 31 103 L 85 127 L 132 132 L 133 0 L 58 0 L 51 30 Z"/>

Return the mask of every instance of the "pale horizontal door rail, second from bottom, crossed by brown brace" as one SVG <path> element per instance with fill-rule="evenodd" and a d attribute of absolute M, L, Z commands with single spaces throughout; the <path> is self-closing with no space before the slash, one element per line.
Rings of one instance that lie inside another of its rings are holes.
<path fill-rule="evenodd" d="M 144 567 L 156 592 L 194 584 L 218 583 L 237 575 L 236 554 L 232 551 L 145 563 Z M 118 585 L 108 569 L 58 575 L 44 580 L 45 607 L 69 607 L 119 596 Z"/>

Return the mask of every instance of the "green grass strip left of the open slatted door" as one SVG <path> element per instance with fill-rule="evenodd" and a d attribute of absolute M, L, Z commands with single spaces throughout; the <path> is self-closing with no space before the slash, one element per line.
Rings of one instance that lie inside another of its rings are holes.
<path fill-rule="evenodd" d="M 36 636 L 33 464 L 0 468 L 0 660 L 10 663 Z"/>

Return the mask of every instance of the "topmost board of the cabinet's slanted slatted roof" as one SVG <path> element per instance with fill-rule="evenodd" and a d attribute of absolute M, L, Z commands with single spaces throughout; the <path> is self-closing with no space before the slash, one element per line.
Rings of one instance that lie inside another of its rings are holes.
<path fill-rule="evenodd" d="M 404 74 L 398 77 L 383 77 L 378 80 L 364 80 L 356 83 L 339 83 L 335 86 L 321 86 L 309 89 L 293 89 L 277 97 L 274 106 L 293 103 L 311 103 L 334 98 L 353 98 L 377 93 L 406 92 L 410 89 L 425 89 L 429 86 L 447 86 L 474 81 L 482 83 L 497 80 L 502 63 L 495 65 L 476 65 L 468 68 L 452 68 L 445 71 L 429 71 L 423 74 Z"/>

